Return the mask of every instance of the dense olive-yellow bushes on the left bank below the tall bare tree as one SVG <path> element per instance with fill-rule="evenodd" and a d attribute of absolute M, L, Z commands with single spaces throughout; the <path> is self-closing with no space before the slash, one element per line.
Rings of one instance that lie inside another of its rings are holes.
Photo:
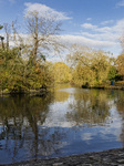
<path fill-rule="evenodd" d="M 18 48 L 0 50 L 0 89 L 11 93 L 46 87 L 52 77 L 45 63 L 31 65 L 19 54 Z"/>

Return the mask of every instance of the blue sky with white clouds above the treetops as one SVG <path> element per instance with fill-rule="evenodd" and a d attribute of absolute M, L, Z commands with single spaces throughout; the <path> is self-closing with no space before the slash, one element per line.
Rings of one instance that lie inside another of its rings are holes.
<path fill-rule="evenodd" d="M 0 0 L 0 24 L 14 20 L 22 24 L 33 10 L 62 22 L 60 39 L 64 43 L 110 51 L 114 56 L 122 52 L 124 0 Z"/>

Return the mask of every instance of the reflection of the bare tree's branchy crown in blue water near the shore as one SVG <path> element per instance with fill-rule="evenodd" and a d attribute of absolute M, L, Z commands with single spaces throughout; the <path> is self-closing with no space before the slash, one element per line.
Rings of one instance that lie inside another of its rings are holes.
<path fill-rule="evenodd" d="M 30 152 L 31 156 L 37 158 L 38 156 L 49 156 L 52 154 L 58 154 L 60 147 L 62 146 L 61 141 L 65 137 L 65 132 L 60 131 L 59 127 L 53 128 L 39 128 L 38 139 L 33 139 L 33 136 L 27 144 L 27 149 Z M 37 144 L 37 145 L 35 145 Z M 35 149 L 37 148 L 37 149 Z M 35 153 L 37 151 L 37 153 Z M 38 155 L 38 156 L 34 156 Z"/>

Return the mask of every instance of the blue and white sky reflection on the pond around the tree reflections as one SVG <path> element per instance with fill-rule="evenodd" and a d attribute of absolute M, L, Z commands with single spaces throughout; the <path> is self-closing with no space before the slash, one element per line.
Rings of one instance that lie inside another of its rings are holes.
<path fill-rule="evenodd" d="M 76 91 L 75 91 L 76 90 Z M 73 154 L 82 154 L 86 152 L 99 152 L 111 148 L 122 147 L 120 135 L 122 134 L 123 120 L 116 110 L 114 98 L 108 101 L 110 114 L 107 121 L 100 124 L 79 123 L 72 118 L 66 117 L 68 113 L 75 110 L 70 107 L 70 104 L 76 103 L 74 98 L 75 93 L 89 92 L 90 90 L 82 89 L 62 89 L 59 92 L 69 93 L 66 100 L 58 98 L 49 104 L 49 112 L 42 125 L 37 122 L 38 126 L 38 158 L 58 157 Z M 61 97 L 62 93 L 56 95 Z M 64 95 L 63 95 L 64 97 Z M 42 114 L 41 114 L 42 116 Z M 10 120 L 13 124 L 13 120 Z M 2 124 L 0 124 L 0 133 Z M 27 118 L 23 118 L 22 133 L 25 141 L 23 146 L 20 146 L 21 141 L 9 139 L 8 147 L 6 147 L 6 139 L 0 141 L 0 163 L 19 162 L 34 158 L 33 148 L 35 146 L 34 133 Z M 14 145 L 17 144 L 18 153 L 13 157 Z M 2 145 L 2 148 L 1 148 Z M 6 152 L 9 149 L 9 153 Z M 12 159 L 13 157 L 13 159 Z"/>

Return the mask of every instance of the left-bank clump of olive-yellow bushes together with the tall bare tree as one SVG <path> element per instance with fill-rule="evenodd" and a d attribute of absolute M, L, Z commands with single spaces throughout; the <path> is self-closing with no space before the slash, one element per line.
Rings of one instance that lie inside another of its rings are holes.
<path fill-rule="evenodd" d="M 50 15 L 50 14 L 49 14 Z M 29 90 L 41 90 L 54 82 L 51 65 L 45 63 L 48 50 L 58 50 L 56 33 L 60 30 L 60 21 L 55 15 L 43 17 L 33 11 L 25 15 L 28 33 L 19 35 L 16 22 L 12 22 L 12 40 L 14 46 L 9 46 L 9 25 L 4 24 L 6 41 L 0 37 L 0 90 L 22 93 Z M 0 29 L 3 27 L 0 25 Z M 27 39 L 25 39 L 27 37 Z M 4 48 L 7 45 L 7 48 Z"/>

